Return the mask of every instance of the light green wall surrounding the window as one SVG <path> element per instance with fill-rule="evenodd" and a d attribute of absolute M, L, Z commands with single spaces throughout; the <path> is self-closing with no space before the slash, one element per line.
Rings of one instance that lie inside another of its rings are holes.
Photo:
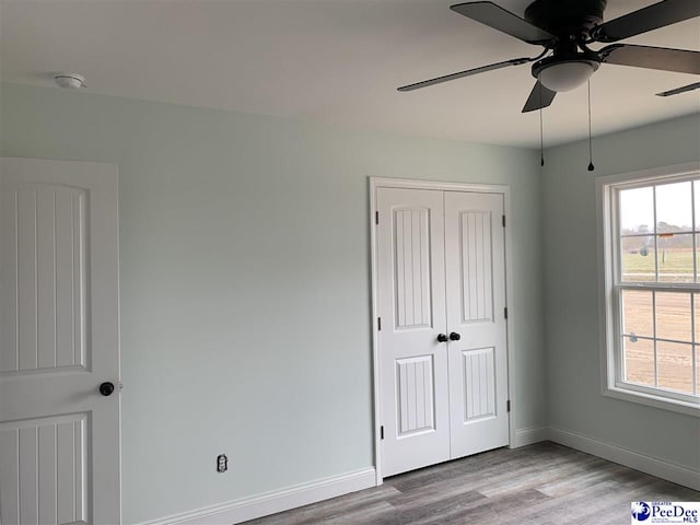
<path fill-rule="evenodd" d="M 700 420 L 600 395 L 595 177 L 695 162 L 700 116 L 546 152 L 542 176 L 549 423 L 700 469 Z"/>

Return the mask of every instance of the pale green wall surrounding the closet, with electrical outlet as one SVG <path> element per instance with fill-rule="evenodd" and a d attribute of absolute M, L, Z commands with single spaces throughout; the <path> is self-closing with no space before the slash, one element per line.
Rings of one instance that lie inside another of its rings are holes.
<path fill-rule="evenodd" d="M 1 96 L 0 154 L 119 165 L 125 523 L 373 464 L 369 176 L 511 186 L 516 428 L 546 423 L 536 153 Z"/>

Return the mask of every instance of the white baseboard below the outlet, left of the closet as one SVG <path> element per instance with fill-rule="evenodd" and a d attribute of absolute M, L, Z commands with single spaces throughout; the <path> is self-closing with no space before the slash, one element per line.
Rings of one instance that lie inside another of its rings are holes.
<path fill-rule="evenodd" d="M 376 486 L 374 468 L 176 514 L 142 525 L 231 525 Z"/>

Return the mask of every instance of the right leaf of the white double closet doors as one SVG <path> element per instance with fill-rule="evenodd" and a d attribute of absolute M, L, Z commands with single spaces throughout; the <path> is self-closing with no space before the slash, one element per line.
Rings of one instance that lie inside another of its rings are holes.
<path fill-rule="evenodd" d="M 502 195 L 445 192 L 453 458 L 509 443 L 502 217 Z"/>

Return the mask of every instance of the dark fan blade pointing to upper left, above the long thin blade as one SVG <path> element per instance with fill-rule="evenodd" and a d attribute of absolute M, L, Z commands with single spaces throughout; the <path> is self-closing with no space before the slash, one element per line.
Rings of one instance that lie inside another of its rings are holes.
<path fill-rule="evenodd" d="M 528 44 L 545 44 L 555 39 L 550 33 L 493 2 L 457 3 L 450 9 Z"/>

